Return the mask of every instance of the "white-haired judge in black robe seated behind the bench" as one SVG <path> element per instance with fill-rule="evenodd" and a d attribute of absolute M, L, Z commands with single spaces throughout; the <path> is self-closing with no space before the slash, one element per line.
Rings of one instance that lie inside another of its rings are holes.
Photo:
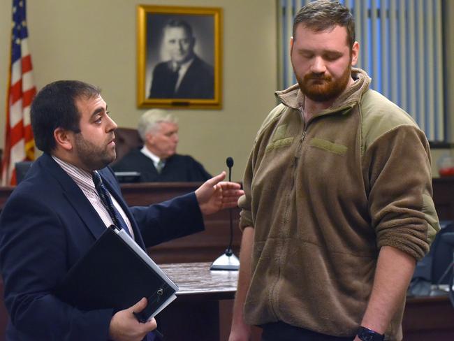
<path fill-rule="evenodd" d="M 140 182 L 203 182 L 211 175 L 189 155 L 177 154 L 177 117 L 165 110 L 148 110 L 139 119 L 144 143 L 113 166 L 116 172 L 140 173 Z"/>

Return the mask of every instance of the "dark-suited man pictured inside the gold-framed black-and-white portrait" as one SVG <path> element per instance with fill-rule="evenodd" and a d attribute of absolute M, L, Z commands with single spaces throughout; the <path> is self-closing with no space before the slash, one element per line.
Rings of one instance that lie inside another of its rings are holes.
<path fill-rule="evenodd" d="M 170 60 L 153 70 L 150 99 L 213 99 L 213 67 L 194 53 L 196 38 L 184 20 L 170 20 L 163 28 L 163 44 Z"/>

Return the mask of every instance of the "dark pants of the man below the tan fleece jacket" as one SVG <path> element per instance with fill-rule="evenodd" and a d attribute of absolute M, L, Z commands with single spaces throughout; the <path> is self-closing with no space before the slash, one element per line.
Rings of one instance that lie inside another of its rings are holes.
<path fill-rule="evenodd" d="M 261 328 L 263 329 L 262 341 L 352 341 L 355 338 L 354 336 L 339 338 L 338 336 L 316 333 L 280 321 L 263 324 Z"/>

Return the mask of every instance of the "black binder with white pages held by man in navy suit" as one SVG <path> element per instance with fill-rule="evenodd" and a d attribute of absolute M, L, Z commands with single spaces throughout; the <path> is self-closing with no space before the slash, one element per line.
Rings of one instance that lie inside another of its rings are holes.
<path fill-rule="evenodd" d="M 145 322 L 175 300 L 178 286 L 124 231 L 111 225 L 68 271 L 54 293 L 80 310 L 124 310 L 148 299 L 136 318 Z"/>

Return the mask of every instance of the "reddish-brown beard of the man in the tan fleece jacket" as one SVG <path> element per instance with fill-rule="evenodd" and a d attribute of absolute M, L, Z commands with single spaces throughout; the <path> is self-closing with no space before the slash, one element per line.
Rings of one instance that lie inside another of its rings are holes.
<path fill-rule="evenodd" d="M 351 64 L 347 67 L 339 80 L 332 80 L 330 75 L 308 73 L 303 79 L 295 74 L 301 92 L 314 102 L 325 102 L 335 99 L 342 94 L 351 78 Z M 316 81 L 316 84 L 314 84 Z"/>

